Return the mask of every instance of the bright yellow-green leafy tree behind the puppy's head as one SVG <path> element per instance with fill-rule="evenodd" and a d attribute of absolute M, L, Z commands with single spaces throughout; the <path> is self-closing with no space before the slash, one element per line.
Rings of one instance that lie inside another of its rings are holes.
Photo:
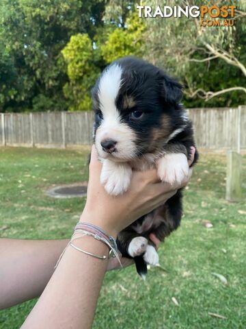
<path fill-rule="evenodd" d="M 103 21 L 92 38 L 88 34 L 72 36 L 61 51 L 68 65 L 64 95 L 69 110 L 90 110 L 91 88 L 107 64 L 123 56 L 142 54 L 145 25 L 131 11 L 128 1 L 109 1 Z"/>

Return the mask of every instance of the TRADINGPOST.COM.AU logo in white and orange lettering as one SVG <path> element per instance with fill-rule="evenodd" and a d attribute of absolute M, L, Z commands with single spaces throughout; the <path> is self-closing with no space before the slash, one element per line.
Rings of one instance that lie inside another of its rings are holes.
<path fill-rule="evenodd" d="M 187 17 L 189 19 L 200 17 L 201 26 L 233 26 L 234 25 L 234 12 L 236 5 L 156 5 L 151 7 L 150 5 L 137 5 L 139 17 L 145 17 L 150 19 L 162 18 L 167 19 L 169 17 L 180 18 Z"/>

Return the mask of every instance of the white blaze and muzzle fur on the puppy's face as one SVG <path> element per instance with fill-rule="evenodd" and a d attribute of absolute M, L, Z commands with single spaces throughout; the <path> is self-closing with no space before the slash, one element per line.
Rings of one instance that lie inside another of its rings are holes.
<path fill-rule="evenodd" d="M 120 122 L 120 112 L 115 104 L 121 84 L 122 68 L 118 64 L 109 66 L 109 69 L 100 78 L 98 98 L 103 119 L 96 130 L 96 149 L 101 158 L 112 158 L 113 156 L 115 160 L 129 160 L 135 154 L 135 133 L 126 123 Z M 107 139 L 112 139 L 117 143 L 116 151 L 110 155 L 103 151 L 100 144 Z"/>

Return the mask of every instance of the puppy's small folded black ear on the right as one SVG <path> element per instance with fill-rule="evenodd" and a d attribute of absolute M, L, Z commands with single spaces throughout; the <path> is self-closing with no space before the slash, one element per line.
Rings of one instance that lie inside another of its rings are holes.
<path fill-rule="evenodd" d="M 162 97 L 167 103 L 180 103 L 182 99 L 182 84 L 165 75 L 162 79 Z"/>

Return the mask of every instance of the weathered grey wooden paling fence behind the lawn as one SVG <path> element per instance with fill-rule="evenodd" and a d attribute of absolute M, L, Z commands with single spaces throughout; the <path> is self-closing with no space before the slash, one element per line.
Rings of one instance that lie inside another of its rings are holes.
<path fill-rule="evenodd" d="M 193 108 L 197 147 L 246 149 L 246 106 Z M 1 113 L 0 145 L 70 147 L 92 143 L 92 112 Z"/>

